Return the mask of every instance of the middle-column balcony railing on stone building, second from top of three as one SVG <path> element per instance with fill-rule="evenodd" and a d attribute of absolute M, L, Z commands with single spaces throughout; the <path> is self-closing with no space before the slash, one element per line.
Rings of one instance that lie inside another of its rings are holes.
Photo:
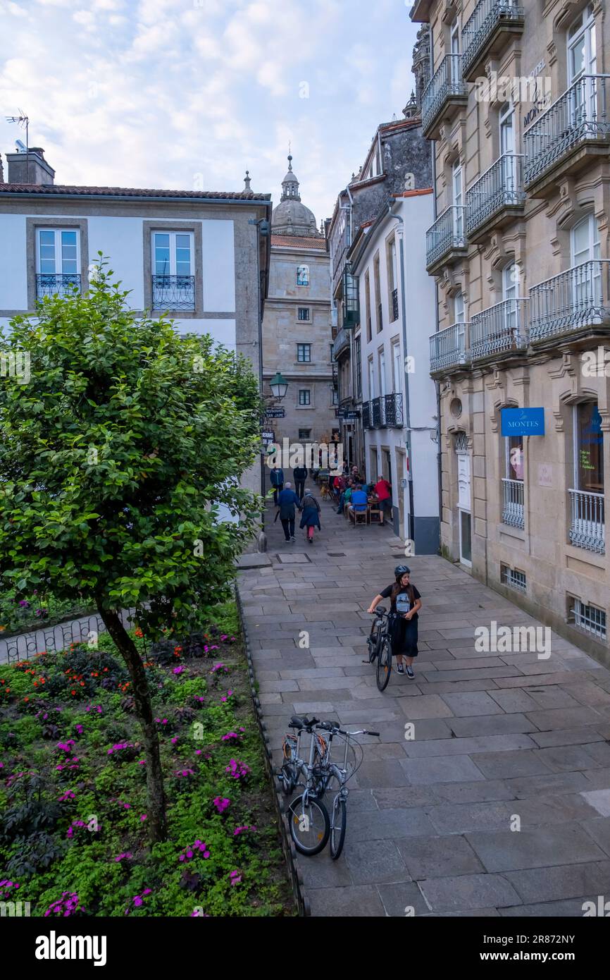
<path fill-rule="evenodd" d="M 466 191 L 466 231 L 472 235 L 504 208 L 522 208 L 523 156 L 504 153 Z"/>

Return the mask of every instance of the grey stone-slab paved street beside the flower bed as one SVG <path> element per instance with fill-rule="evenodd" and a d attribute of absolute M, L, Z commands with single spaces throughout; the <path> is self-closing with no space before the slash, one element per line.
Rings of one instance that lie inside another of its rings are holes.
<path fill-rule="evenodd" d="M 269 564 L 239 576 L 278 760 L 293 711 L 381 732 L 361 740 L 344 854 L 299 858 L 312 914 L 582 916 L 610 894 L 610 673 L 555 634 L 548 660 L 478 653 L 476 626 L 540 623 L 421 557 L 407 560 L 423 603 L 415 679 L 393 671 L 380 694 L 365 611 L 400 542 L 321 506 L 312 546 L 299 530 L 286 544 L 269 509 Z"/>

